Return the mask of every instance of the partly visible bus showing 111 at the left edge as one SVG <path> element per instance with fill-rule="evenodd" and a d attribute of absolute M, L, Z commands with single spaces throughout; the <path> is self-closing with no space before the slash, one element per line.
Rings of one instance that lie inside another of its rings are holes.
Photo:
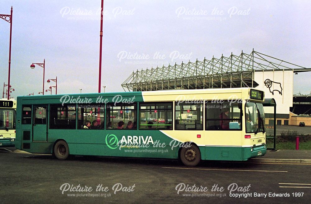
<path fill-rule="evenodd" d="M 0 100 L 0 147 L 15 146 L 16 101 Z"/>

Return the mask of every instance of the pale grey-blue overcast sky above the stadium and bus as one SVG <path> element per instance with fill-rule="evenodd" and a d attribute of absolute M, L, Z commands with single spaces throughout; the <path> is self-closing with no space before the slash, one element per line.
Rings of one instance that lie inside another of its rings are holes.
<path fill-rule="evenodd" d="M 57 76 L 58 94 L 98 92 L 100 0 L 1 0 L 0 14 L 11 6 L 13 97 L 42 91 L 43 68 L 30 65 L 44 59 L 45 81 Z M 122 92 L 133 71 L 253 48 L 310 68 L 310 10 L 309 1 L 106 0 L 101 85 Z M 9 34 L 10 24 L 0 19 L 1 84 L 7 84 Z M 294 75 L 293 92 L 309 94 L 310 79 L 311 72 Z"/>

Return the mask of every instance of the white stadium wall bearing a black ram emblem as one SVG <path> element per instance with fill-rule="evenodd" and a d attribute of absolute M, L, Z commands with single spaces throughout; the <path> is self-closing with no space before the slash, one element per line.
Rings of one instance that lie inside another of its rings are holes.
<path fill-rule="evenodd" d="M 290 71 L 256 71 L 254 80 L 259 88 L 265 92 L 265 98 L 274 98 L 276 101 L 276 114 L 287 114 L 293 106 L 293 80 L 294 72 Z M 273 113 L 273 107 L 265 107 L 265 113 Z"/>

